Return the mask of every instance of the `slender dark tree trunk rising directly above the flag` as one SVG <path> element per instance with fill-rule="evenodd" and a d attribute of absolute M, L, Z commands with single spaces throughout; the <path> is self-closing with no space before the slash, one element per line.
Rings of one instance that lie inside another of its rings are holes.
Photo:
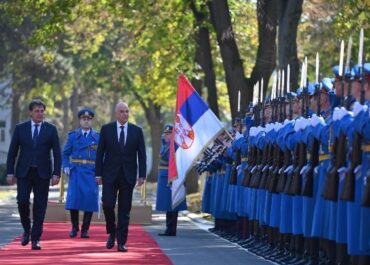
<path fill-rule="evenodd" d="M 190 8 L 193 11 L 196 19 L 196 33 L 197 49 L 195 52 L 195 61 L 204 72 L 204 85 L 208 91 L 208 104 L 214 114 L 219 117 L 219 109 L 217 102 L 217 88 L 216 75 L 213 67 L 211 45 L 209 42 L 209 31 L 205 25 L 206 14 L 205 11 L 198 11 L 194 0 L 190 3 Z"/>

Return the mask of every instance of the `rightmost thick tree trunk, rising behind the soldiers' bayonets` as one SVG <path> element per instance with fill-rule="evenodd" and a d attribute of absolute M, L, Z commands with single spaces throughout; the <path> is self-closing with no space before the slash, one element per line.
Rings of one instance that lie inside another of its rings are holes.
<path fill-rule="evenodd" d="M 291 88 L 298 87 L 297 29 L 302 14 L 303 0 L 279 0 L 279 68 L 290 64 Z M 286 77 L 286 75 L 285 75 Z M 285 84 L 287 82 L 285 81 Z"/>

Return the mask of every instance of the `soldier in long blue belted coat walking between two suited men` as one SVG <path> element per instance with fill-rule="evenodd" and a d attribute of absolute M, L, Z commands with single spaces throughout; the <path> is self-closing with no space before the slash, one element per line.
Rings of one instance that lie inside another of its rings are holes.
<path fill-rule="evenodd" d="M 93 212 L 99 209 L 99 188 L 95 181 L 95 158 L 99 133 L 91 128 L 94 112 L 84 108 L 78 112 L 80 128 L 68 134 L 63 150 L 63 170 L 69 176 L 66 209 L 70 210 L 72 230 L 79 231 L 79 210 L 84 211 L 81 238 L 89 238 Z"/>

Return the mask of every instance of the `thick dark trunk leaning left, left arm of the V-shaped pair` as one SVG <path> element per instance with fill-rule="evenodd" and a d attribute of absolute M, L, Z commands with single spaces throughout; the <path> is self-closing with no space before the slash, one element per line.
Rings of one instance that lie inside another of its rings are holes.
<path fill-rule="evenodd" d="M 208 2 L 211 21 L 216 30 L 217 42 L 220 47 L 222 62 L 225 70 L 226 85 L 229 94 L 231 115 L 234 119 L 238 113 L 238 91 L 241 94 L 240 111 L 244 112 L 247 100 L 250 100 L 251 91 L 247 91 L 247 80 L 244 75 L 243 62 L 234 37 L 227 0 L 213 0 Z M 248 96 L 247 96 L 248 94 Z"/>

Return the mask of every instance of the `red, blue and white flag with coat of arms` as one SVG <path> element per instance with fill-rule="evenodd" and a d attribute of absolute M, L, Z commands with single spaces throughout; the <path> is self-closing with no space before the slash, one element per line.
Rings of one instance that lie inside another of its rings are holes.
<path fill-rule="evenodd" d="M 168 180 L 172 183 L 172 208 L 185 200 L 187 173 L 204 149 L 224 127 L 184 75 L 177 82 L 174 130 L 171 137 Z"/>

